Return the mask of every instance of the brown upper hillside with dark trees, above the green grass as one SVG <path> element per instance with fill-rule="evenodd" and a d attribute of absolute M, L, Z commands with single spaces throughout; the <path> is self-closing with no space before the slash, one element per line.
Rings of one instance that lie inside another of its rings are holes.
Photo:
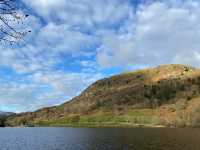
<path fill-rule="evenodd" d="M 124 115 L 130 111 L 144 109 L 157 110 L 154 115 L 159 120 L 165 120 L 163 118 L 167 117 L 166 114 L 172 114 L 175 116 L 174 119 L 177 119 L 177 114 L 173 114 L 176 108 L 171 107 L 178 102 L 182 105 L 183 101 L 183 103 L 194 99 L 198 101 L 198 98 L 200 98 L 199 69 L 184 65 L 162 65 L 99 80 L 63 105 L 44 108 L 33 113 L 14 115 L 8 118 L 7 124 L 34 124 L 69 118 L 73 122 L 74 120 L 79 121 L 80 116 L 105 114 L 106 112 L 112 115 Z M 163 118 L 160 118 L 163 106 L 169 107 L 169 111 L 164 111 Z M 187 104 L 185 107 L 191 106 Z M 71 116 L 76 117 L 71 118 Z M 174 120 L 170 120 L 172 121 Z M 162 123 L 166 122 L 165 120 Z"/>

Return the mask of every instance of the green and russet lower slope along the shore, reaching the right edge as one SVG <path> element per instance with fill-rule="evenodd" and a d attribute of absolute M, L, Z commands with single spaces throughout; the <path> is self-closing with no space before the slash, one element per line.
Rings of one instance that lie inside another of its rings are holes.
<path fill-rule="evenodd" d="M 156 109 L 134 109 L 123 113 L 94 112 L 88 115 L 73 114 L 60 119 L 32 122 L 36 126 L 87 126 L 87 127 L 199 127 L 200 100 L 180 100 Z"/>

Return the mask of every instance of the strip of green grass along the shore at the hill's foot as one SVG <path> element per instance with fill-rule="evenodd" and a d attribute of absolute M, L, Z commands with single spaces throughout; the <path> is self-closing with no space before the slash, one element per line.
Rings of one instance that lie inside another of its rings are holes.
<path fill-rule="evenodd" d="M 92 115 L 73 115 L 62 119 L 34 122 L 36 126 L 137 126 L 158 125 L 159 118 L 151 111 L 130 111 L 126 115 L 100 113 Z"/>

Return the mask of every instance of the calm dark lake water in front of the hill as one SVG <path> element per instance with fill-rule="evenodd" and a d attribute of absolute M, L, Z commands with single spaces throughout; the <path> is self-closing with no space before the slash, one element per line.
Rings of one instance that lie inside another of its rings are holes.
<path fill-rule="evenodd" d="M 0 150 L 200 150 L 200 129 L 0 128 Z"/>

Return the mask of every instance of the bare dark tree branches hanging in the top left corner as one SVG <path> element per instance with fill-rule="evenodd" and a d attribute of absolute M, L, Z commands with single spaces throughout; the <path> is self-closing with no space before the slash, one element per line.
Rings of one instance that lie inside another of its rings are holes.
<path fill-rule="evenodd" d="M 18 10 L 17 1 L 0 0 L 0 42 L 5 41 L 13 44 L 31 32 L 19 28 L 28 15 Z"/>

